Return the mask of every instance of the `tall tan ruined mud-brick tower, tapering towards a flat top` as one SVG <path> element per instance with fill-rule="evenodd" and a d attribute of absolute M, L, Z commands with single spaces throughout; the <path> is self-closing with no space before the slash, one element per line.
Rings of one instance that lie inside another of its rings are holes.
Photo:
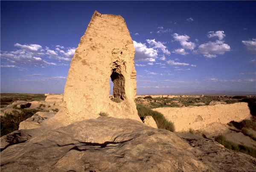
<path fill-rule="evenodd" d="M 115 118 L 140 121 L 134 103 L 134 53 L 125 20 L 120 15 L 95 11 L 76 48 L 67 76 L 64 104 L 71 121 L 77 116 L 86 116 L 87 112 L 105 112 Z M 110 78 L 113 99 L 109 98 Z"/>

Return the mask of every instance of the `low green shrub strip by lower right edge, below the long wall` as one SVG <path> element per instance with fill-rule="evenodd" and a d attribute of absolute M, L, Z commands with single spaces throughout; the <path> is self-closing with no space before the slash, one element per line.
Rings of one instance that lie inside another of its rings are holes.
<path fill-rule="evenodd" d="M 216 136 L 215 141 L 222 144 L 227 149 L 236 150 L 236 151 L 251 155 L 252 157 L 256 158 L 256 149 L 253 149 L 252 147 L 247 147 L 245 145 L 236 144 L 232 141 L 228 141 L 227 137 L 225 135 Z"/>

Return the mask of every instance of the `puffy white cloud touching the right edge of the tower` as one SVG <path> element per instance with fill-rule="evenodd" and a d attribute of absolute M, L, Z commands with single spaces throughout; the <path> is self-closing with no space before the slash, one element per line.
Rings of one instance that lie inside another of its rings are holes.
<path fill-rule="evenodd" d="M 135 48 L 135 61 L 155 62 L 157 59 L 157 50 L 153 48 L 147 48 L 147 46 L 141 42 L 133 41 Z"/>

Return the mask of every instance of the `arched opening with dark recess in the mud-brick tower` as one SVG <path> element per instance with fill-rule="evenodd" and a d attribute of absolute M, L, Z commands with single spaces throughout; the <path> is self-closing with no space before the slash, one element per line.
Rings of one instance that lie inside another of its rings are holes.
<path fill-rule="evenodd" d="M 114 102 L 122 102 L 125 96 L 125 77 L 121 73 L 113 72 L 110 76 L 113 82 L 113 99 Z"/>

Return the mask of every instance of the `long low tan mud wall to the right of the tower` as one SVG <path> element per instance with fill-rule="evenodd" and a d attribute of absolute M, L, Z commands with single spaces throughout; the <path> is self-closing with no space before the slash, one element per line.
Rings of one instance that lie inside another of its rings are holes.
<path fill-rule="evenodd" d="M 154 108 L 175 125 L 175 131 L 199 130 L 212 123 L 227 124 L 250 118 L 250 109 L 245 102 L 234 104 L 216 104 L 199 107 L 159 107 Z"/>

